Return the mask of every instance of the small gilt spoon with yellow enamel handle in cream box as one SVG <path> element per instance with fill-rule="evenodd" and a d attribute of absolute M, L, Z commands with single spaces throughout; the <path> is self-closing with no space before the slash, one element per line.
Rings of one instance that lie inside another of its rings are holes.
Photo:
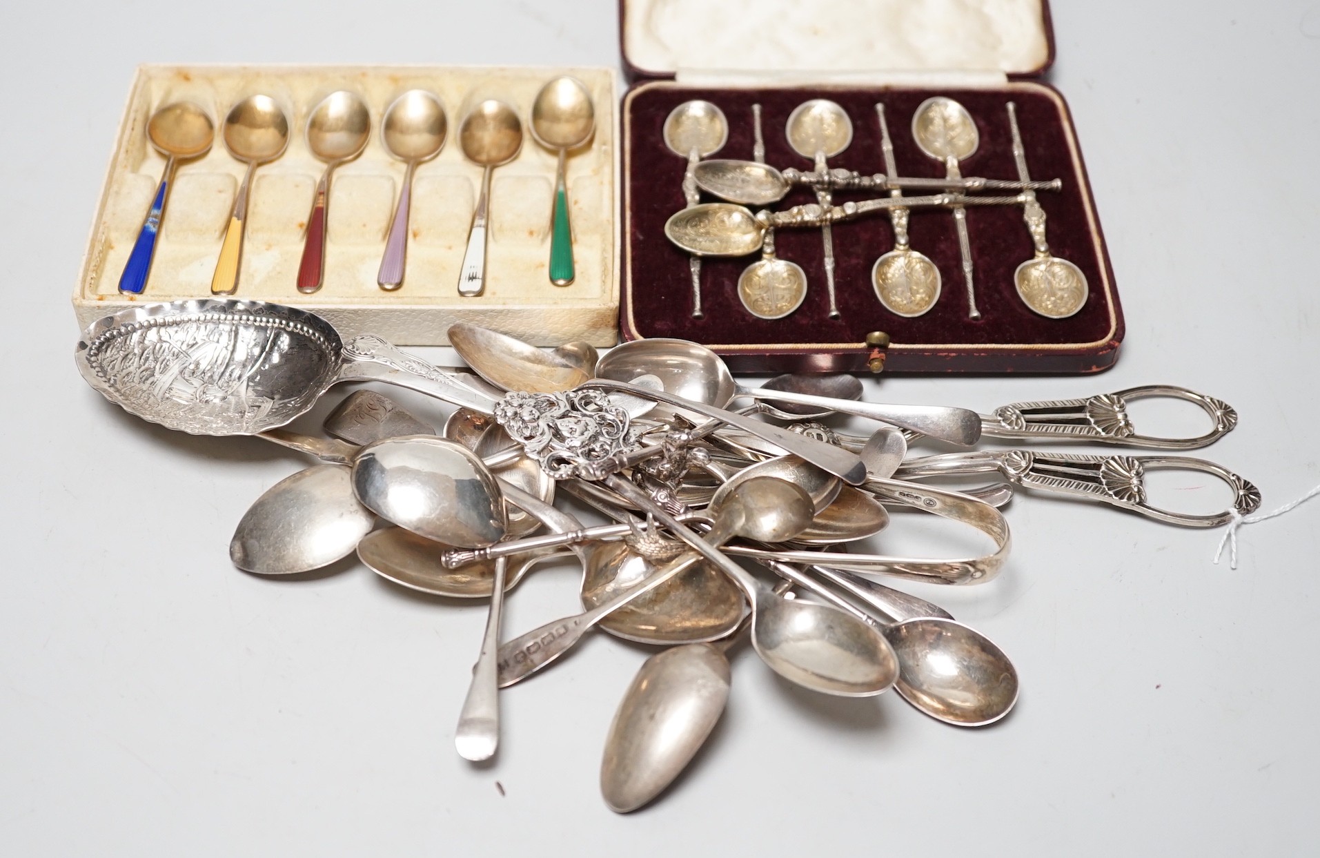
<path fill-rule="evenodd" d="M 280 157 L 289 145 L 289 117 L 269 95 L 249 95 L 230 110 L 220 137 L 230 154 L 248 165 L 234 198 L 215 273 L 211 275 L 211 294 L 234 294 L 238 292 L 243 267 L 243 235 L 247 231 L 252 174 L 259 164 Z"/>

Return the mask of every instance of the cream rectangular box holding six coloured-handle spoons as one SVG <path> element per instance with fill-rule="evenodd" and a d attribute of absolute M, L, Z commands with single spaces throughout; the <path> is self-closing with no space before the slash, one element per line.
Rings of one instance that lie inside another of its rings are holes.
<path fill-rule="evenodd" d="M 556 153 L 527 127 L 532 99 L 553 77 L 582 81 L 595 103 L 595 136 L 568 160 L 577 277 L 556 286 L 548 276 Z M 380 143 L 380 117 L 400 92 L 434 92 L 449 133 L 440 156 L 417 168 L 412 191 L 408 269 L 397 292 L 376 285 L 385 234 L 405 165 Z M 330 189 L 325 286 L 294 286 L 317 178 L 325 169 L 309 150 L 306 119 L 335 90 L 358 92 L 371 111 L 366 150 L 335 169 Z M 220 140 L 220 121 L 239 99 L 273 96 L 290 120 L 289 148 L 257 168 L 236 298 L 296 305 L 326 317 L 345 337 L 380 334 L 396 345 L 440 346 L 454 322 L 486 325 L 541 346 L 585 339 L 614 345 L 619 313 L 619 194 L 612 69 L 446 66 L 141 66 L 133 79 L 110 170 L 83 259 L 74 309 L 78 322 L 133 304 L 210 297 L 234 195 L 246 165 Z M 467 108 L 496 98 L 523 120 L 523 149 L 491 181 L 486 293 L 459 297 L 458 272 L 482 168 L 463 157 L 458 125 Z M 147 141 L 152 112 L 172 102 L 202 106 L 216 124 L 205 156 L 181 162 L 169 193 L 150 280 L 141 296 L 119 293 L 165 158 Z"/>

